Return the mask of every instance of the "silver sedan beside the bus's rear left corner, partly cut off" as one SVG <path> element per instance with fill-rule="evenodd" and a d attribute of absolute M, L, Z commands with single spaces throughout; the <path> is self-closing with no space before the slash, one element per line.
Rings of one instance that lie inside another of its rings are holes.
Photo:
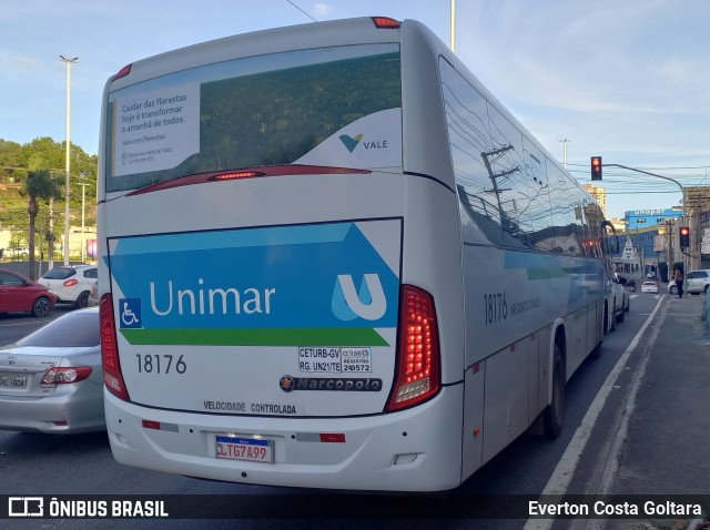
<path fill-rule="evenodd" d="M 105 429 L 98 307 L 67 313 L 0 348 L 0 429 Z"/>

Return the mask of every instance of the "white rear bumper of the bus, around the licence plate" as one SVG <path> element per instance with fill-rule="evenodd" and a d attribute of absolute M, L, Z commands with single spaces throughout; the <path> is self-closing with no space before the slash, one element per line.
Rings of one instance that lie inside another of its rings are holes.
<path fill-rule="evenodd" d="M 230 482 L 284 487 L 444 491 L 462 482 L 463 385 L 393 414 L 274 418 L 158 410 L 105 394 L 120 463 Z M 273 463 L 217 458 L 216 437 L 272 441 Z"/>

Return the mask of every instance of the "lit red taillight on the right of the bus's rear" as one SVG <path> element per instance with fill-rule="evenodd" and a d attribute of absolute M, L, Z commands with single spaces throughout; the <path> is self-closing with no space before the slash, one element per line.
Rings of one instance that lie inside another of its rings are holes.
<path fill-rule="evenodd" d="M 432 295 L 418 287 L 403 285 L 396 380 L 387 410 L 417 405 L 439 391 L 440 354 L 437 327 Z"/>

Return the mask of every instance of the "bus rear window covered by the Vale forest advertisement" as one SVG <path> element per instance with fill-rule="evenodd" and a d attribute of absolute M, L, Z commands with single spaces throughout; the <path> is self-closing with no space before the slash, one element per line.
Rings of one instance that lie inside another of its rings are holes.
<path fill-rule="evenodd" d="M 109 93 L 106 191 L 293 163 L 400 166 L 400 108 L 398 44 L 298 50 L 176 71 Z M 368 132 L 390 149 L 365 153 Z"/>

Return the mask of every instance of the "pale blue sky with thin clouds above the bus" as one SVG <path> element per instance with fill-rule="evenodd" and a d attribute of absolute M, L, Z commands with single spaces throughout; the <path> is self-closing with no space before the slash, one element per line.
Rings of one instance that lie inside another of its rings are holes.
<path fill-rule="evenodd" d="M 455 52 L 568 170 L 604 164 L 607 216 L 679 206 L 710 184 L 710 2 L 458 0 Z M 221 37 L 363 16 L 450 42 L 450 0 L 0 0 L 0 139 L 98 153 L 105 81 L 138 59 Z"/>

